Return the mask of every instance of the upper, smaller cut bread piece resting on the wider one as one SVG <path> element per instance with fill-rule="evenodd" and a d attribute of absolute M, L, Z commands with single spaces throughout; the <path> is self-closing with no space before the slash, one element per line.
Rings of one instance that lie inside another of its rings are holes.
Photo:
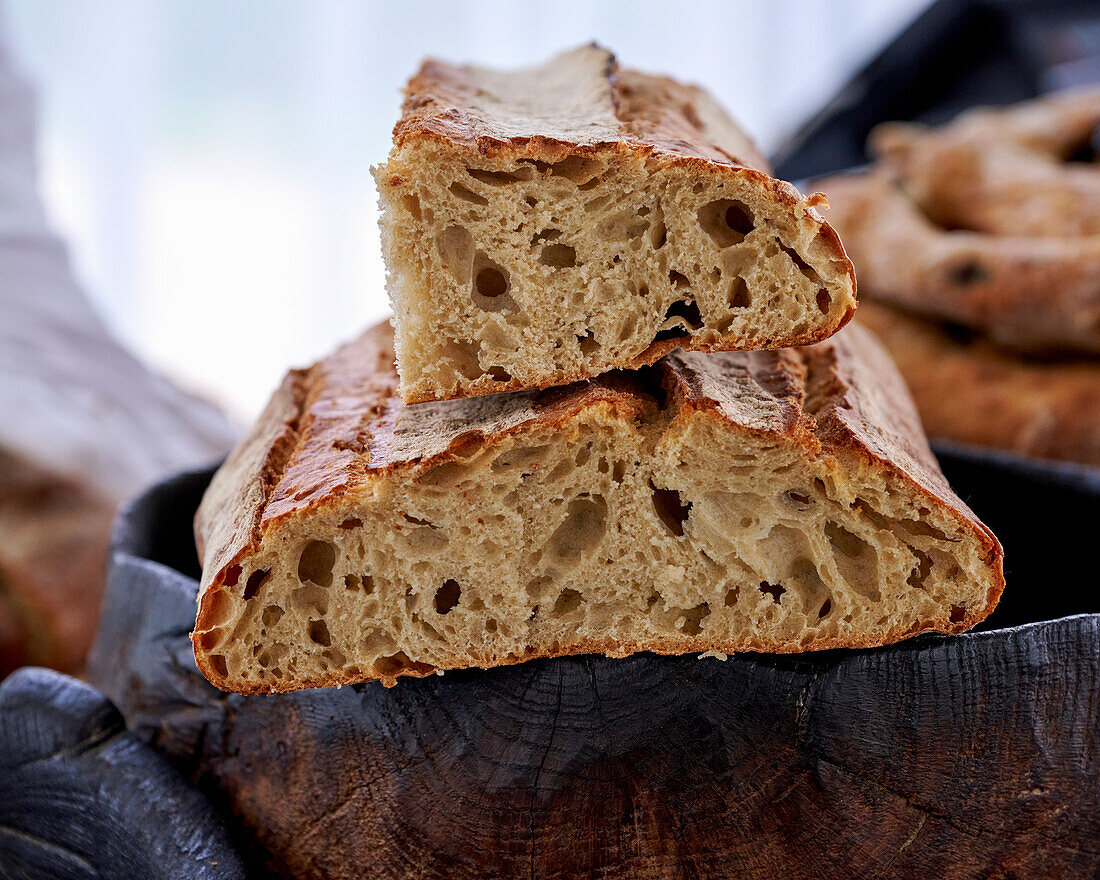
<path fill-rule="evenodd" d="M 406 403 L 805 344 L 856 306 L 817 198 L 705 91 L 597 46 L 426 62 L 375 178 Z"/>

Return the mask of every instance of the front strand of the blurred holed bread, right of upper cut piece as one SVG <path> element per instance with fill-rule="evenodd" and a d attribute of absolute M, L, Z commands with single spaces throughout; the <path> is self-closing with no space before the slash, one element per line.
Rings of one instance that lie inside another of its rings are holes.
<path fill-rule="evenodd" d="M 865 300 L 953 321 L 1023 351 L 1100 353 L 1100 235 L 945 229 L 882 168 L 818 184 Z"/>

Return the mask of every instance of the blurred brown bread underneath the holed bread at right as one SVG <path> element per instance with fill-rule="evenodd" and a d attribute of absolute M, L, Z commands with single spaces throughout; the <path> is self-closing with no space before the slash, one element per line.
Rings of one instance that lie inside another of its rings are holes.
<path fill-rule="evenodd" d="M 873 302 L 858 321 L 893 355 L 931 437 L 1100 465 L 1100 363 L 1014 356 Z"/>

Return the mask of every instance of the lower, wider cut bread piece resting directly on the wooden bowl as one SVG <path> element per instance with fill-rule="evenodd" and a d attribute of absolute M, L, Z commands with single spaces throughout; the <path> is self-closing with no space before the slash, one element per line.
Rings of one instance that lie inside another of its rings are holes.
<path fill-rule="evenodd" d="M 997 604 L 1001 548 L 859 328 L 411 407 L 392 346 L 292 372 L 211 483 L 193 639 L 219 688 L 875 646 Z"/>

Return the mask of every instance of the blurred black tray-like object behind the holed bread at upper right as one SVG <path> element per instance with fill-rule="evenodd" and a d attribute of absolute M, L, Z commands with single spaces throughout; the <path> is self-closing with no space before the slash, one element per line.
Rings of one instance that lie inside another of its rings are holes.
<path fill-rule="evenodd" d="M 867 162 L 888 120 L 945 122 L 976 105 L 1100 82 L 1100 2 L 937 0 L 773 153 L 802 179 Z"/>

